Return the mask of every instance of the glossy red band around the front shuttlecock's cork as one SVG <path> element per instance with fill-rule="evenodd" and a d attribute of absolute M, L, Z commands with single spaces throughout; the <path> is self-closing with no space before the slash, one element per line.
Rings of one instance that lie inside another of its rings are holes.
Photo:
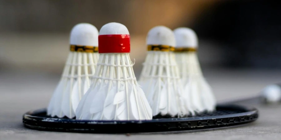
<path fill-rule="evenodd" d="M 130 53 L 130 35 L 99 35 L 99 53 Z"/>

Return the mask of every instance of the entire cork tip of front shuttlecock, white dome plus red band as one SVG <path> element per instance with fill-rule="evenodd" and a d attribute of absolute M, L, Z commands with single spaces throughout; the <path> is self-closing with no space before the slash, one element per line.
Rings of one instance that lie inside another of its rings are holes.
<path fill-rule="evenodd" d="M 126 26 L 111 22 L 101 27 L 99 53 L 130 53 L 130 34 Z"/>

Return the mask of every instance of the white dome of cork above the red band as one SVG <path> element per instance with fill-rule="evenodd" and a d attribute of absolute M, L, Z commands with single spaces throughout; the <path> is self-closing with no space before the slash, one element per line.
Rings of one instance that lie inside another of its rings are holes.
<path fill-rule="evenodd" d="M 130 35 L 123 24 L 111 22 L 101 27 L 100 35 Z"/>

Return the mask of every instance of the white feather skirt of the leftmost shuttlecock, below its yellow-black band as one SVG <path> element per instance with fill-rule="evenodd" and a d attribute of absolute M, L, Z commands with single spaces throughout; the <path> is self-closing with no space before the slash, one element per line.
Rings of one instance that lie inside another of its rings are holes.
<path fill-rule="evenodd" d="M 75 117 L 78 103 L 91 85 L 98 56 L 98 53 L 70 52 L 47 108 L 48 115 Z"/>

